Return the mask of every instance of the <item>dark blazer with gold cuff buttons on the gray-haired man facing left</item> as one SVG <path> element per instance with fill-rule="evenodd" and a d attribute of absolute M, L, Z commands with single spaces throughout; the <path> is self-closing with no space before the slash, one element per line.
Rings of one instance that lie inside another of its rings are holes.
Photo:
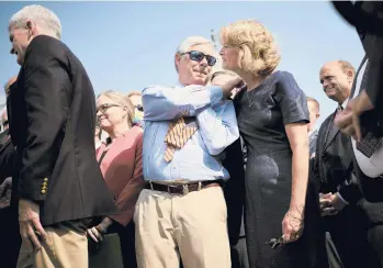
<path fill-rule="evenodd" d="M 117 211 L 95 159 L 95 98 L 60 41 L 40 35 L 10 91 L 18 197 L 41 205 L 43 225 Z"/>

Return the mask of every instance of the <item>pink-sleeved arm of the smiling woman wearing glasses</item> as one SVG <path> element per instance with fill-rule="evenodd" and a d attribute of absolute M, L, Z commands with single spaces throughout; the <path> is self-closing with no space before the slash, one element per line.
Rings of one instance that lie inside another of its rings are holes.
<path fill-rule="evenodd" d="M 143 175 L 143 132 L 136 137 L 135 158 L 131 159 L 134 160 L 134 169 L 131 175 L 127 175 L 131 176 L 132 179 L 127 182 L 115 201 L 122 213 L 110 216 L 123 226 L 126 226 L 132 221 L 135 204 L 145 186 Z"/>

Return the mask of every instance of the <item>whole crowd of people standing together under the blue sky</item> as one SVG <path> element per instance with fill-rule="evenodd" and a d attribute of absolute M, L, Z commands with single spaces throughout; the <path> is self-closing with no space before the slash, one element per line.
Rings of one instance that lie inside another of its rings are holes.
<path fill-rule="evenodd" d="M 324 62 L 336 103 L 316 127 L 320 104 L 255 20 L 224 26 L 219 53 L 183 40 L 177 85 L 95 98 L 53 11 L 24 7 L 9 34 L 1 267 L 383 267 L 383 198 L 365 185 L 381 137 L 359 122 L 381 122 L 375 57 Z"/>

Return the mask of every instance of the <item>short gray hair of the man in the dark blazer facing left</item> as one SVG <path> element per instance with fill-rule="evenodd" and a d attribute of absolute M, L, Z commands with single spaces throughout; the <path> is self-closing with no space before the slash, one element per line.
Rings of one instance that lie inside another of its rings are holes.
<path fill-rule="evenodd" d="M 61 38 L 61 23 L 58 16 L 49 9 L 38 4 L 26 5 L 9 20 L 8 31 L 26 27 L 27 21 L 33 21 L 44 30 L 44 34 Z"/>

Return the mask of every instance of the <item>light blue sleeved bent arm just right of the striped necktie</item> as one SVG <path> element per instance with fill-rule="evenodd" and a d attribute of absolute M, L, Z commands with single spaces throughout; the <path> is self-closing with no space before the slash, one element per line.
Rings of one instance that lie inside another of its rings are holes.
<path fill-rule="evenodd" d="M 232 101 L 224 101 L 214 109 L 206 107 L 196 114 L 203 142 L 211 155 L 221 154 L 239 137 L 237 118 Z"/>

